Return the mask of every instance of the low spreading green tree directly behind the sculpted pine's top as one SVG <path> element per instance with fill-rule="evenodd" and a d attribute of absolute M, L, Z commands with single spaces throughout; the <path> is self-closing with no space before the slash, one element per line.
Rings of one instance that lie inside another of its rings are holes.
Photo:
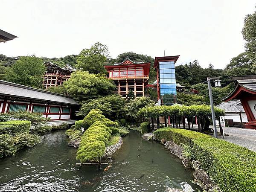
<path fill-rule="evenodd" d="M 77 115 L 86 116 L 92 109 L 99 109 L 108 119 L 116 120 L 124 117 L 125 98 L 119 95 L 109 95 L 90 99 L 81 105 Z"/>

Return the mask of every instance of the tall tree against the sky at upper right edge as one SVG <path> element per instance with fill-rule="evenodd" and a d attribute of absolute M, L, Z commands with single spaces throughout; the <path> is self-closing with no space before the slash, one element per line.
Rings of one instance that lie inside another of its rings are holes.
<path fill-rule="evenodd" d="M 244 18 L 243 38 L 246 41 L 245 49 L 250 61 L 256 64 L 256 11 Z"/>

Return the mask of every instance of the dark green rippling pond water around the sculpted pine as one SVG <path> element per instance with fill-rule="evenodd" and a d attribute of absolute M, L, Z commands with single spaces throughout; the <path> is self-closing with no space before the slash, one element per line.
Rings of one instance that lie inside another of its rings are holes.
<path fill-rule="evenodd" d="M 155 192 L 168 187 L 197 191 L 192 171 L 163 145 L 142 140 L 136 131 L 123 138 L 110 169 L 76 166 L 76 149 L 64 131 L 42 136 L 42 143 L 0 160 L 0 192 Z"/>

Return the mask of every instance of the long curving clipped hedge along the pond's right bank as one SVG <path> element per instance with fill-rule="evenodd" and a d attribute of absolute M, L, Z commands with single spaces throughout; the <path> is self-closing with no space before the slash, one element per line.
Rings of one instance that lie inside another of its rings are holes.
<path fill-rule="evenodd" d="M 256 191 L 256 153 L 195 131 L 160 128 L 157 140 L 172 140 L 191 148 L 195 159 L 223 192 Z"/>

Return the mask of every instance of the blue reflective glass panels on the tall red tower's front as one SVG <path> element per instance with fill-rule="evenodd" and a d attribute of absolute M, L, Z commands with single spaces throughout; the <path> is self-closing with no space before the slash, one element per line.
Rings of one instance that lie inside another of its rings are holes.
<path fill-rule="evenodd" d="M 175 62 L 159 62 L 161 105 L 172 105 L 177 102 Z"/>

